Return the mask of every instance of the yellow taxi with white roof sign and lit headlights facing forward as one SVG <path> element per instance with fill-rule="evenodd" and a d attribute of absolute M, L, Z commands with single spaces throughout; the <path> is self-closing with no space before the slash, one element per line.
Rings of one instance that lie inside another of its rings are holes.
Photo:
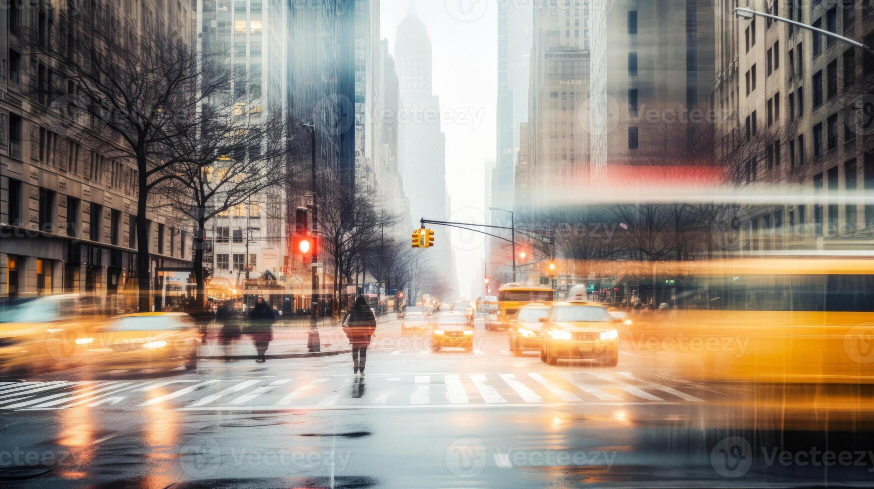
<path fill-rule="evenodd" d="M 586 286 L 572 286 L 568 300 L 556 302 L 544 323 L 540 360 L 555 365 L 558 359 L 586 360 L 606 366 L 619 362 L 617 322 L 607 306 L 586 300 Z"/>

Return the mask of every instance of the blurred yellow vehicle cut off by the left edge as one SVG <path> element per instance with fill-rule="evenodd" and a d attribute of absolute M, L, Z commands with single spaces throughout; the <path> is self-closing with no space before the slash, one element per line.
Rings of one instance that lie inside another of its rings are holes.
<path fill-rule="evenodd" d="M 63 366 L 66 338 L 99 320 L 76 293 L 7 300 L 0 307 L 0 371 L 35 372 Z"/>

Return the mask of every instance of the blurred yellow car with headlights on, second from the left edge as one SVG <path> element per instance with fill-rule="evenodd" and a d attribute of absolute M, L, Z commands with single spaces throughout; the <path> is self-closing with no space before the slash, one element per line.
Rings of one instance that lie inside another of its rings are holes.
<path fill-rule="evenodd" d="M 73 339 L 80 363 L 101 368 L 198 366 L 200 333 L 187 313 L 133 313 L 87 328 Z"/>

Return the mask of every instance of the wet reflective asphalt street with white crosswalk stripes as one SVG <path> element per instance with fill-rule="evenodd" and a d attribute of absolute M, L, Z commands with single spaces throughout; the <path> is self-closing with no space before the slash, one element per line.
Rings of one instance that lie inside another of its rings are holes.
<path fill-rule="evenodd" d="M 384 341 L 350 355 L 194 371 L 0 379 L 0 485 L 870 486 L 871 389 L 697 382 Z M 268 351 L 269 353 L 269 351 Z M 25 383 L 31 382 L 31 383 Z"/>

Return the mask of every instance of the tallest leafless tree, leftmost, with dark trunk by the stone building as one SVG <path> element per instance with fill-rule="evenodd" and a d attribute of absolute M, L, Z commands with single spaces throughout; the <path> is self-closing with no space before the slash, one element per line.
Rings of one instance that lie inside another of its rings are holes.
<path fill-rule="evenodd" d="M 102 6 L 102 5 L 101 5 Z M 228 74 L 200 55 L 191 39 L 153 26 L 125 24 L 118 12 L 94 6 L 68 9 L 63 49 L 34 43 L 34 53 L 66 78 L 62 84 L 40 83 L 38 91 L 78 120 L 87 114 L 83 138 L 98 141 L 109 158 L 131 162 L 135 181 L 139 310 L 149 310 L 151 288 L 150 197 L 176 180 L 179 162 L 166 159 L 165 148 L 198 124 L 198 107 L 212 93 L 228 87 Z M 120 20 L 120 18 L 122 20 Z M 111 27 L 111 28 L 110 28 Z M 120 29 L 121 27 L 121 29 Z"/>

